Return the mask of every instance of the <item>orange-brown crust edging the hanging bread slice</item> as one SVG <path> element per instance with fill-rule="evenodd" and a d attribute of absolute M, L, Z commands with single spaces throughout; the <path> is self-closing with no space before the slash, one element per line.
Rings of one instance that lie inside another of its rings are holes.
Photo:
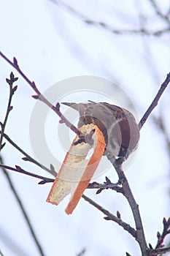
<path fill-rule="evenodd" d="M 65 210 L 66 214 L 72 214 L 72 211 L 77 206 L 77 203 L 79 202 L 80 198 L 82 197 L 83 192 L 88 187 L 90 179 L 93 177 L 93 174 L 95 173 L 96 168 L 98 167 L 98 164 L 101 160 L 101 157 L 104 154 L 105 141 L 104 141 L 104 136 L 103 136 L 102 132 L 94 124 L 90 124 L 90 127 L 92 129 L 95 129 L 95 132 L 96 132 L 96 135 L 97 135 L 97 138 L 98 138 L 97 143 L 96 143 L 96 148 L 94 149 L 93 154 L 90 157 L 90 160 L 88 162 L 88 166 L 85 167 L 85 170 L 82 174 L 82 178 L 80 179 L 79 183 L 77 184 L 77 187 L 74 190 L 74 193 L 71 197 L 71 200 L 69 201 L 69 204 L 66 207 L 66 210 Z M 82 127 L 80 127 L 80 131 L 82 131 Z M 77 141 L 77 139 L 78 139 L 78 136 L 76 136 L 76 138 L 74 138 L 73 143 L 75 141 Z M 50 189 L 50 193 L 47 197 L 47 202 L 55 204 L 56 206 L 58 205 L 58 203 L 52 202 L 50 200 L 50 195 L 53 192 L 53 189 L 54 189 L 54 187 L 56 186 L 56 184 L 58 182 L 58 177 L 62 173 L 62 170 L 64 168 L 64 164 L 66 162 L 67 157 L 69 156 L 69 152 L 70 152 L 71 148 L 72 148 L 72 146 L 69 148 L 69 151 L 67 152 L 66 157 L 63 160 L 63 164 L 61 165 L 61 168 L 58 172 L 58 176 L 55 178 L 55 181 L 53 183 L 53 187 Z M 69 175 L 69 173 L 68 173 L 68 175 Z"/>

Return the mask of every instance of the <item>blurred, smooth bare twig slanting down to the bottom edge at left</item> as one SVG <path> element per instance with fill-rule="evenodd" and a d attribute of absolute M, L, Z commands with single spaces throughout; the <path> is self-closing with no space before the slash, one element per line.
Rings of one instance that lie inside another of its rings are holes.
<path fill-rule="evenodd" d="M 1 157 L 0 157 L 0 162 L 1 162 L 1 165 L 4 164 L 4 163 L 3 163 L 3 160 L 1 159 Z M 6 178 L 7 178 L 7 181 L 8 181 L 8 183 L 9 183 L 9 186 L 10 186 L 10 188 L 12 189 L 12 192 L 13 192 L 13 194 L 15 195 L 16 200 L 18 201 L 18 204 L 19 204 L 20 209 L 21 209 L 21 211 L 22 211 L 22 213 L 23 213 L 23 216 L 24 216 L 24 218 L 26 219 L 26 223 L 27 223 L 27 225 L 28 225 L 28 227 L 29 227 L 29 230 L 30 230 L 30 232 L 31 232 L 32 237 L 34 238 L 34 242 L 35 242 L 35 244 L 36 244 L 36 247 L 37 247 L 37 249 L 39 250 L 39 255 L 45 256 L 45 252 L 43 252 L 42 246 L 40 245 L 39 240 L 38 240 L 38 238 L 36 237 L 36 233 L 35 233 L 35 231 L 34 231 L 34 227 L 32 226 L 31 221 L 30 221 L 30 219 L 29 219 L 29 217 L 28 217 L 28 214 L 26 213 L 26 209 L 24 208 L 23 203 L 22 203 L 22 201 L 21 201 L 21 199 L 20 199 L 20 196 L 18 195 L 18 192 L 16 191 L 15 186 L 14 186 L 14 184 L 12 183 L 12 179 L 10 178 L 9 173 L 7 173 L 7 170 L 6 170 L 4 167 L 1 167 L 1 169 L 3 170 L 4 175 L 5 175 Z"/>

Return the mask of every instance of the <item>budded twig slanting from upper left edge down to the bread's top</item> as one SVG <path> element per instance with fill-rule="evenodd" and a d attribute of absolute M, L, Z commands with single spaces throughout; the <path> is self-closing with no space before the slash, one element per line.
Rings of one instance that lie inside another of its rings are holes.
<path fill-rule="evenodd" d="M 70 123 L 70 121 L 63 116 L 63 114 L 60 111 L 60 104 L 57 103 L 55 106 L 53 104 L 51 104 L 44 96 L 43 94 L 41 94 L 41 92 L 39 91 L 39 89 L 36 87 L 36 84 L 34 83 L 34 81 L 31 81 L 27 78 L 27 76 L 23 73 L 23 71 L 20 69 L 20 67 L 18 66 L 18 61 L 17 59 L 14 57 L 13 58 L 13 62 L 10 61 L 3 53 L 1 53 L 0 51 L 0 56 L 7 61 L 12 67 L 14 67 L 18 73 L 23 77 L 24 80 L 26 80 L 26 82 L 28 83 L 29 86 L 31 86 L 31 88 L 36 92 L 36 95 L 33 95 L 32 97 L 34 97 L 34 99 L 40 99 L 42 102 L 44 102 L 49 108 L 51 108 L 58 116 L 60 116 L 60 118 L 63 120 L 63 123 L 66 124 L 67 127 L 69 127 L 70 129 L 72 129 L 73 132 L 75 132 L 77 135 L 80 136 L 80 138 L 83 138 L 84 135 L 82 135 L 82 132 L 80 132 L 79 129 L 77 129 L 77 127 L 74 127 L 73 124 Z"/>

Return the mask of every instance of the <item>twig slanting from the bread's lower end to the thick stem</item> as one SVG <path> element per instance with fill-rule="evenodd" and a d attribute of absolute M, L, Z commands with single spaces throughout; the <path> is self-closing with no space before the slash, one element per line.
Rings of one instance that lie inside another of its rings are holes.
<path fill-rule="evenodd" d="M 105 208 L 103 208 L 102 206 L 98 205 L 98 203 L 96 203 L 95 201 L 91 200 L 89 197 L 87 197 L 86 195 L 82 195 L 82 198 L 87 201 L 88 203 L 90 203 L 90 205 L 96 207 L 99 211 L 101 211 L 103 214 L 105 214 L 107 217 L 104 217 L 104 219 L 107 220 L 112 220 L 113 222 L 116 222 L 118 225 L 120 225 L 121 227 L 123 227 L 124 230 L 126 230 L 128 233 L 131 234 L 131 236 L 134 236 L 134 238 L 136 238 L 136 230 L 134 230 L 133 227 L 131 227 L 130 225 L 128 225 L 127 223 L 123 222 L 122 219 L 116 217 L 114 214 L 111 214 L 109 211 L 107 211 Z"/>

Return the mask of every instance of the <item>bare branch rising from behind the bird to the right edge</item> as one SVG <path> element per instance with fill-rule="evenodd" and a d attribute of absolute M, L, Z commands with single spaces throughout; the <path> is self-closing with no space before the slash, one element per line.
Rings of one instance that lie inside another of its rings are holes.
<path fill-rule="evenodd" d="M 150 116 L 150 113 L 156 107 L 156 105 L 158 105 L 158 101 L 161 98 L 161 95 L 163 94 L 163 91 L 169 85 L 169 82 L 170 82 L 170 73 L 166 76 L 166 80 L 164 80 L 164 82 L 161 84 L 161 88 L 159 89 L 158 93 L 156 94 L 155 98 L 153 99 L 150 107 L 144 113 L 144 116 L 142 116 L 141 121 L 139 121 L 139 129 L 142 129 L 145 121 L 147 121 L 147 118 Z"/>

